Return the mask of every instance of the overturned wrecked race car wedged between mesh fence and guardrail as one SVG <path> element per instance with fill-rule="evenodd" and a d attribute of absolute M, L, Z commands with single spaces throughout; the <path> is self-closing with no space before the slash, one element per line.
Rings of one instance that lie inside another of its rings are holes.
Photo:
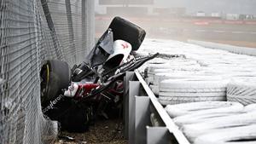
<path fill-rule="evenodd" d="M 41 105 L 61 130 L 84 132 L 96 118 L 122 112 L 125 72 L 134 71 L 158 54 L 137 57 L 146 32 L 115 17 L 90 54 L 70 69 L 67 62 L 46 60 L 42 66 Z"/>

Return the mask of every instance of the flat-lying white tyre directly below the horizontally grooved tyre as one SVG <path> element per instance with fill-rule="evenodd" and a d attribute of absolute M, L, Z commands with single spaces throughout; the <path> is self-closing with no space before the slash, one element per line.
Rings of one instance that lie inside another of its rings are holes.
<path fill-rule="evenodd" d="M 195 112 L 207 113 L 207 112 L 223 112 L 230 111 L 229 109 L 242 109 L 242 105 L 237 102 L 226 102 L 226 101 L 204 101 L 204 102 L 192 102 L 183 103 L 177 105 L 166 106 L 166 112 L 175 118 L 185 114 L 192 114 Z"/>

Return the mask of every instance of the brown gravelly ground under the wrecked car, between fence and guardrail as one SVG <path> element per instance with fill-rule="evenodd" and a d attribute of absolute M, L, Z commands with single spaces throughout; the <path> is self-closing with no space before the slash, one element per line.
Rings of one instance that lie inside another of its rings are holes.
<path fill-rule="evenodd" d="M 119 119 L 98 120 L 84 133 L 61 132 L 55 144 L 127 144 L 123 136 L 123 124 Z M 73 139 L 68 140 L 65 136 Z"/>

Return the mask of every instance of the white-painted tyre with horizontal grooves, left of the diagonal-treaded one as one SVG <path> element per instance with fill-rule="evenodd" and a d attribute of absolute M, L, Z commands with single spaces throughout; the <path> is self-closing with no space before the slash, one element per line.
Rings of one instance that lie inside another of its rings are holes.
<path fill-rule="evenodd" d="M 197 101 L 225 101 L 227 83 L 227 81 L 219 80 L 164 80 L 160 83 L 159 101 L 162 105 Z M 212 91 L 213 89 L 216 90 Z"/>

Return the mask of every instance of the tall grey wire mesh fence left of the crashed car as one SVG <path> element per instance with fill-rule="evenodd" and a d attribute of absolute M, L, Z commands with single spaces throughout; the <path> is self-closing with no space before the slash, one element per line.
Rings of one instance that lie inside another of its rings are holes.
<path fill-rule="evenodd" d="M 0 0 L 0 143 L 49 143 L 57 123 L 44 118 L 44 60 L 81 62 L 94 43 L 94 1 Z"/>

